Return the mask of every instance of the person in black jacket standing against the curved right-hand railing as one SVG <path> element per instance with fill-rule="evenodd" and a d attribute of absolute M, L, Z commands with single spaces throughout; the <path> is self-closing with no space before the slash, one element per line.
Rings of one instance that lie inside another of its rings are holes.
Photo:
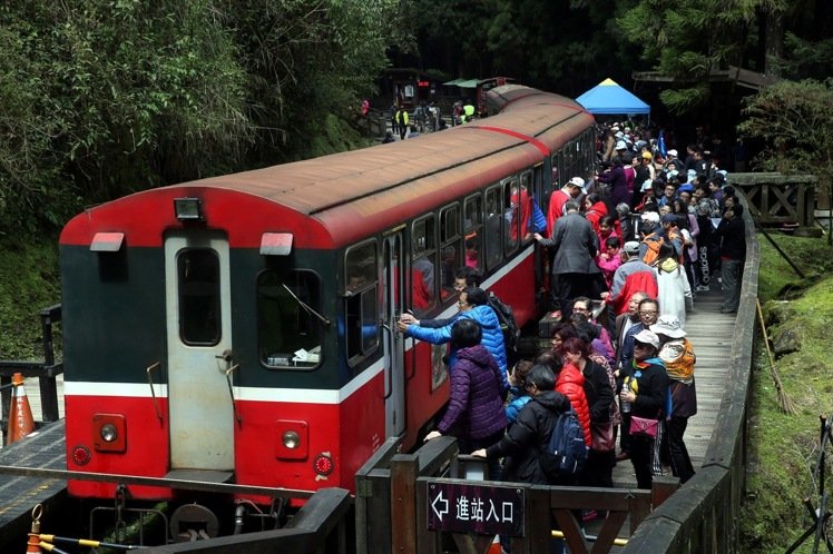
<path fill-rule="evenodd" d="M 741 304 L 741 277 L 746 258 L 746 226 L 743 221 L 743 206 L 734 204 L 726 209 L 714 236 L 721 240 L 721 280 L 723 283 L 721 314 L 734 314 Z"/>

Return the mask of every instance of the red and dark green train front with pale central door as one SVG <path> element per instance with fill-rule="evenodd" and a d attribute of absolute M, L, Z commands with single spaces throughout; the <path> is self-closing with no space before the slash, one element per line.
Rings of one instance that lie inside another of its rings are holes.
<path fill-rule="evenodd" d="M 356 379 L 340 355 L 340 258 L 314 220 L 178 186 L 77 216 L 60 248 L 68 469 L 353 487 L 384 441 L 383 372 Z M 116 483 L 69 493 L 112 498 Z M 182 495 L 161 485 L 128 489 Z"/>

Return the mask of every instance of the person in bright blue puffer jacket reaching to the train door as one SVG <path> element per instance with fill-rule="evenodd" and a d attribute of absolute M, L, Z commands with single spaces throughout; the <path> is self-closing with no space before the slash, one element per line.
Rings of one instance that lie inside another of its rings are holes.
<path fill-rule="evenodd" d="M 482 288 L 469 287 L 460 294 L 460 300 L 457 303 L 460 313 L 453 321 L 460 318 L 474 319 L 483 329 L 481 344 L 494 357 L 500 368 L 500 377 L 503 383 L 503 392 L 509 390 L 509 380 L 507 379 L 507 352 L 503 344 L 503 332 L 500 329 L 500 320 L 494 310 L 489 306 L 489 297 Z M 434 345 L 441 345 L 451 342 L 451 327 L 453 321 L 439 327 L 425 328 L 414 324 L 408 324 L 400 319 L 398 328 L 409 337 L 424 340 Z M 457 362 L 457 348 L 452 345 L 449 355 L 449 368 L 453 370 Z"/>

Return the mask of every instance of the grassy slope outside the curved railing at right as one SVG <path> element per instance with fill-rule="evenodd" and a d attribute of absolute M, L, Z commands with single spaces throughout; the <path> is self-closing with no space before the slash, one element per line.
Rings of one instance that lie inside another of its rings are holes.
<path fill-rule="evenodd" d="M 742 503 L 741 552 L 782 553 L 808 525 L 804 497 L 817 504 L 812 473 L 819 454 L 819 414 L 833 408 L 833 269 L 830 249 L 821 239 L 773 236 L 806 275 L 800 280 L 763 237 L 758 293 L 764 303 L 770 337 L 788 330 L 800 349 L 776 359 L 787 395 L 800 407 L 795 416 L 781 412 L 770 377 L 768 356 L 757 346 L 749 421 L 746 502 Z M 820 256 L 821 254 L 821 256 Z M 784 286 L 787 285 L 788 286 Z M 790 290 L 785 300 L 782 291 Z M 829 462 L 832 459 L 829 454 Z M 830 467 L 827 468 L 830 474 Z M 806 543 L 807 545 L 811 543 Z M 810 552 L 804 548 L 800 552 Z"/>

